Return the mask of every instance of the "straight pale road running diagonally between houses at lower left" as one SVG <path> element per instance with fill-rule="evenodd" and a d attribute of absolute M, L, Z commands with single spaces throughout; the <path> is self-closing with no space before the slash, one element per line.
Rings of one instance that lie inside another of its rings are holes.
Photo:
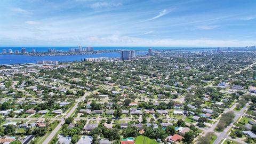
<path fill-rule="evenodd" d="M 74 111 L 76 110 L 76 108 L 77 108 L 77 106 L 78 106 L 78 103 L 81 102 L 82 100 L 84 100 L 84 98 L 85 98 L 88 94 L 90 94 L 90 92 L 86 92 L 86 93 L 84 94 L 84 96 L 83 96 L 81 99 L 78 99 L 78 100 L 76 101 L 75 106 L 69 111 L 69 113 L 65 116 L 65 118 L 70 117 L 70 116 L 74 113 Z M 48 143 L 53 139 L 53 137 L 55 136 L 55 134 L 61 129 L 61 126 L 62 126 L 64 123 L 65 123 L 64 118 L 61 118 L 61 122 L 57 125 L 57 127 L 55 127 L 55 129 L 51 132 L 51 134 L 49 135 L 49 137 L 45 139 L 45 141 L 43 142 L 43 144 L 48 144 Z"/>

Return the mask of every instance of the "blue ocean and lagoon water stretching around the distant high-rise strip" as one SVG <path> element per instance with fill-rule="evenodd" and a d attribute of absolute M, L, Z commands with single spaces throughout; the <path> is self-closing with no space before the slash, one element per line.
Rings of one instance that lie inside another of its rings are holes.
<path fill-rule="evenodd" d="M 21 48 L 26 48 L 26 52 L 31 52 L 32 49 L 35 49 L 35 52 L 47 52 L 48 49 L 56 49 L 57 51 L 67 52 L 68 49 L 77 48 L 77 46 L 59 46 L 59 47 L 0 47 L 0 53 L 2 53 L 3 49 L 12 49 L 21 51 Z M 152 48 L 154 50 L 179 50 L 179 51 L 207 51 L 207 50 L 215 50 L 214 47 L 94 47 L 94 51 L 99 50 L 142 50 L 142 52 L 136 52 L 137 55 L 145 55 L 147 50 Z M 15 55 L 15 54 L 0 54 L 0 65 L 3 64 L 18 64 L 18 63 L 36 63 L 40 60 L 55 60 L 60 62 L 67 61 L 81 61 L 81 59 L 85 58 L 98 58 L 98 57 L 109 57 L 109 58 L 119 58 L 120 53 L 118 52 L 103 52 L 98 54 L 84 54 L 84 55 L 63 55 L 63 56 L 29 56 L 29 55 Z"/>

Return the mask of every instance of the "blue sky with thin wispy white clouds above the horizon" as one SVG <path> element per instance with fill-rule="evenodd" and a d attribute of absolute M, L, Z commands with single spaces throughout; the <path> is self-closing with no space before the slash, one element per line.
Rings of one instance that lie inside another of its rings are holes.
<path fill-rule="evenodd" d="M 0 46 L 251 46 L 255 0 L 1 0 Z"/>

